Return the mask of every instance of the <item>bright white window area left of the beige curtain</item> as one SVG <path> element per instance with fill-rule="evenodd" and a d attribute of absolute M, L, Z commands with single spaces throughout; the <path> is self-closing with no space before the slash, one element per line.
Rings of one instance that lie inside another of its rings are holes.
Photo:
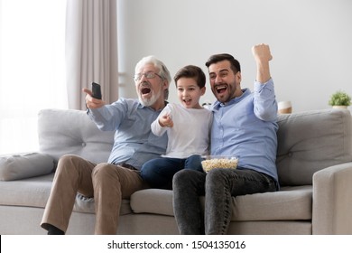
<path fill-rule="evenodd" d="M 36 151 L 37 114 L 68 108 L 63 0 L 0 0 L 0 155 Z"/>

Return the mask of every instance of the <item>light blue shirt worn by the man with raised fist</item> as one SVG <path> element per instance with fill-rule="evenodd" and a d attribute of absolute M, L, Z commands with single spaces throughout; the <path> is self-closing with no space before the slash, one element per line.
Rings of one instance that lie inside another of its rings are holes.
<path fill-rule="evenodd" d="M 278 180 L 276 151 L 278 125 L 273 80 L 255 82 L 255 91 L 226 104 L 215 102 L 211 155 L 235 155 L 239 167 L 266 173 Z"/>

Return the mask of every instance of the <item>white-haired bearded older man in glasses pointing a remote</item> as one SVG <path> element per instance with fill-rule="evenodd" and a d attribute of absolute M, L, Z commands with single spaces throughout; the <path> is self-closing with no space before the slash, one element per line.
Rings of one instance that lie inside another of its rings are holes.
<path fill-rule="evenodd" d="M 136 64 L 134 81 L 139 99 L 120 98 L 111 105 L 83 90 L 88 117 L 101 130 L 115 130 L 115 143 L 107 163 L 60 158 L 41 224 L 48 234 L 66 232 L 77 192 L 94 197 L 95 233 L 116 234 L 122 199 L 146 187 L 140 169 L 164 154 L 167 145 L 167 136 L 154 136 L 151 124 L 165 107 L 171 76 L 162 61 L 149 56 Z"/>

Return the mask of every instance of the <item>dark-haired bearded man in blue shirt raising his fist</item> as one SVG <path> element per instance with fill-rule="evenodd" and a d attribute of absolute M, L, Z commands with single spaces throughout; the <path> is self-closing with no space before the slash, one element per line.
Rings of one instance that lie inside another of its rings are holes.
<path fill-rule="evenodd" d="M 235 155 L 239 164 L 236 170 L 182 170 L 174 175 L 173 209 L 181 234 L 226 234 L 233 196 L 278 189 L 272 55 L 264 44 L 254 46 L 252 52 L 257 65 L 254 93 L 241 89 L 240 64 L 233 56 L 213 55 L 206 63 L 218 99 L 212 106 L 211 155 Z M 199 195 L 205 195 L 204 216 Z"/>

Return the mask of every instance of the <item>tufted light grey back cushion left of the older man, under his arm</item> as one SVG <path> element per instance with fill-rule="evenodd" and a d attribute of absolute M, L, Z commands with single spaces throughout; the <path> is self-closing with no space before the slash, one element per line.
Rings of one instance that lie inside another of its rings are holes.
<path fill-rule="evenodd" d="M 100 131 L 86 111 L 43 109 L 38 115 L 40 152 L 57 162 L 61 155 L 80 155 L 95 163 L 107 162 L 115 132 Z"/>

